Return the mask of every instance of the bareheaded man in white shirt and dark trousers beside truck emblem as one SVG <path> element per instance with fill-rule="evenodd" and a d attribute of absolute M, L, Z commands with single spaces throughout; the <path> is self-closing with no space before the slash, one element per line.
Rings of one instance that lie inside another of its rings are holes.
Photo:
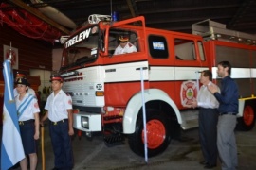
<path fill-rule="evenodd" d="M 200 82 L 203 84 L 197 95 L 197 100 L 191 103 L 192 108 L 199 107 L 199 140 L 201 144 L 204 161 L 200 161 L 206 169 L 211 169 L 217 163 L 217 123 L 219 102 L 207 86 L 215 86 L 211 82 L 212 74 L 210 70 L 201 72 Z M 219 90 L 220 91 L 220 90 Z"/>

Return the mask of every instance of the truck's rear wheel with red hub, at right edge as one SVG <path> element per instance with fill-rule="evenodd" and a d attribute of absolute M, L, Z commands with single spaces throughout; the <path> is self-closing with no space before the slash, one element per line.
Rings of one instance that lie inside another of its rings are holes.
<path fill-rule="evenodd" d="M 251 130 L 255 125 L 254 110 L 250 105 L 246 105 L 244 108 L 243 117 L 238 119 L 238 128 L 241 130 Z"/>

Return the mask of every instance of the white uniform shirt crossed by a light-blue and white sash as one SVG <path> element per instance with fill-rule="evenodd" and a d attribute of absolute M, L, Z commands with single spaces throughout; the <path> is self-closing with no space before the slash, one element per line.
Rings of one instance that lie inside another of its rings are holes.
<path fill-rule="evenodd" d="M 28 95 L 29 95 L 29 93 L 26 93 L 22 100 L 19 100 L 20 94 L 18 94 L 15 97 L 17 110 L 18 110 L 19 106 L 23 102 L 25 102 Z M 33 98 L 31 100 L 31 102 L 27 105 L 27 108 L 24 110 L 24 112 L 19 117 L 19 121 L 27 121 L 27 120 L 30 120 L 30 119 L 35 119 L 34 114 L 39 113 L 39 112 L 40 112 L 40 110 L 39 110 L 39 106 L 38 106 L 38 103 L 37 103 L 37 99 Z"/>

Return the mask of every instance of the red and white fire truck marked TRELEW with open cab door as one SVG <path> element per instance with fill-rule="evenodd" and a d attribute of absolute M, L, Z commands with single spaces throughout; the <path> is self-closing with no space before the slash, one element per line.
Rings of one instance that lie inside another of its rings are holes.
<path fill-rule="evenodd" d="M 91 15 L 62 39 L 60 73 L 72 96 L 74 128 L 89 137 L 102 132 L 106 144 L 127 138 L 131 150 L 143 156 L 144 104 L 148 156 L 155 156 L 182 129 L 198 126 L 198 111 L 186 105 L 196 97 L 200 71 L 210 69 L 219 84 L 221 60 L 230 61 L 239 86 L 239 126 L 254 127 L 256 39 L 210 20 L 192 27 L 194 34 L 185 34 L 146 27 L 142 16 L 111 22 L 110 16 Z M 120 35 L 129 37 L 137 52 L 113 55 Z"/>

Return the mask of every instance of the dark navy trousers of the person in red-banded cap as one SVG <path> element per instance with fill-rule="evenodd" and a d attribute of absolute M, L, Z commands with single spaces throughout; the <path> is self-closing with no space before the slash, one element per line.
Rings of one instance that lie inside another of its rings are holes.
<path fill-rule="evenodd" d="M 68 135 L 68 121 L 60 122 L 57 125 L 49 122 L 49 132 L 55 167 L 61 170 L 71 170 L 74 160 L 71 137 Z"/>

